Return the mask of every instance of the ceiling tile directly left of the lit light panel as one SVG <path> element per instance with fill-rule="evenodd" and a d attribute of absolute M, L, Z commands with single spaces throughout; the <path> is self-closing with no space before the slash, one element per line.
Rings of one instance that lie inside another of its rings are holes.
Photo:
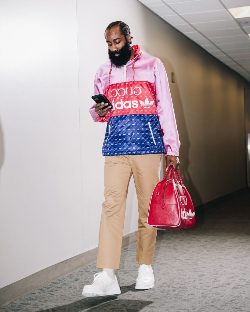
<path fill-rule="evenodd" d="M 228 14 L 226 10 L 212 11 L 212 12 L 200 12 L 200 13 L 192 13 L 192 14 L 180 14 L 180 15 L 190 24 L 222 21 L 222 20 L 232 20 L 232 17 Z"/>

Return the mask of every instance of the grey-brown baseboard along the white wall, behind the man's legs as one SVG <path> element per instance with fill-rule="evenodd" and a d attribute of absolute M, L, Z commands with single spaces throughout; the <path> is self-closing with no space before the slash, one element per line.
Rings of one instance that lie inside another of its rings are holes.
<path fill-rule="evenodd" d="M 137 231 L 123 236 L 122 248 L 134 243 L 137 240 Z M 97 247 L 85 251 L 80 255 L 64 260 L 22 280 L 18 280 L 0 289 L 0 307 L 24 297 L 32 291 L 45 286 L 60 277 L 67 275 L 83 266 L 86 266 L 97 259 Z"/>

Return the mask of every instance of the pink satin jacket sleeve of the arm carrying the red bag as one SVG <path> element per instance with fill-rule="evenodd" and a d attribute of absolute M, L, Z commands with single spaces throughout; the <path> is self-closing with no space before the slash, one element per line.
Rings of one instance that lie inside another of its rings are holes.
<path fill-rule="evenodd" d="M 163 63 L 155 67 L 155 91 L 158 118 L 163 130 L 163 144 L 167 155 L 179 156 L 180 141 L 174 115 L 168 77 Z"/>

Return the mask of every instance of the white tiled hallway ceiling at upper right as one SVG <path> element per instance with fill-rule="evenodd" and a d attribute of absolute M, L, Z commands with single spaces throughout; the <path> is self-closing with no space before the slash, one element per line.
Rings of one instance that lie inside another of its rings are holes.
<path fill-rule="evenodd" d="M 138 1 L 250 81 L 250 17 L 234 18 L 228 10 L 250 0 Z"/>

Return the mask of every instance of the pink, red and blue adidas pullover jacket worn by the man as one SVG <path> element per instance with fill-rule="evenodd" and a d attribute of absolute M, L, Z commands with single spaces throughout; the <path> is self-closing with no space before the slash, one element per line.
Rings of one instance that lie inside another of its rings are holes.
<path fill-rule="evenodd" d="M 163 63 L 142 54 L 138 45 L 133 60 L 122 68 L 108 61 L 95 76 L 95 95 L 104 94 L 113 108 L 94 121 L 107 122 L 103 156 L 167 154 L 179 156 L 180 141 L 168 78 Z"/>

